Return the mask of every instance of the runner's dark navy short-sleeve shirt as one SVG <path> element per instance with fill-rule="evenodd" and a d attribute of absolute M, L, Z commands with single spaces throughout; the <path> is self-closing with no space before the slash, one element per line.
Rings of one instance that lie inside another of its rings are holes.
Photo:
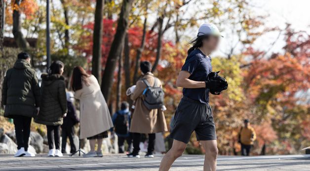
<path fill-rule="evenodd" d="M 205 56 L 199 49 L 192 51 L 182 67 L 191 73 L 189 79 L 194 81 L 206 81 L 212 72 L 211 58 Z M 183 88 L 183 96 L 200 103 L 209 103 L 209 89 L 207 88 Z"/>

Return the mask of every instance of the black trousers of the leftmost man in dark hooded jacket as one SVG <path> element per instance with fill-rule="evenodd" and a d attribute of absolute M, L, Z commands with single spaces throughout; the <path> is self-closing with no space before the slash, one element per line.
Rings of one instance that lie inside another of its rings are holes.
<path fill-rule="evenodd" d="M 13 122 L 15 126 L 17 149 L 24 147 L 25 151 L 28 151 L 31 119 L 31 117 L 27 116 L 14 116 Z"/>

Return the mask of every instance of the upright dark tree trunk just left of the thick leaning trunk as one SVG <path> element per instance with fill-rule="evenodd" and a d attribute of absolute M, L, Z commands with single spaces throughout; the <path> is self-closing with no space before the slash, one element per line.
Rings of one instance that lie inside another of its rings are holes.
<path fill-rule="evenodd" d="M 102 51 L 101 42 L 103 34 L 103 6 L 104 6 L 104 0 L 96 0 L 91 73 L 98 79 L 99 83 L 101 78 L 101 51 Z"/>

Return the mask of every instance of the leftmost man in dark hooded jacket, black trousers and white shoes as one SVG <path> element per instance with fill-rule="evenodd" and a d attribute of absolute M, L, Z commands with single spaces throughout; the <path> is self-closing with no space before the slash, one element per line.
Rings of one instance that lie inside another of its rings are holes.
<path fill-rule="evenodd" d="M 18 151 L 15 157 L 32 157 L 28 152 L 32 117 L 39 112 L 40 87 L 35 69 L 31 68 L 30 55 L 22 52 L 13 68 L 6 71 L 2 87 L 4 117 L 12 118 Z"/>

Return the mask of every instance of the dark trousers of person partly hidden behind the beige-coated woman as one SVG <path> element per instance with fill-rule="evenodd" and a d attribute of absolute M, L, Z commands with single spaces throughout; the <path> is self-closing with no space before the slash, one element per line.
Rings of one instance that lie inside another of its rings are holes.
<path fill-rule="evenodd" d="M 67 145 L 67 137 L 69 137 L 70 141 L 70 153 L 74 153 L 77 151 L 76 145 L 74 144 L 73 137 L 74 137 L 74 126 L 62 128 L 62 143 L 61 143 L 61 152 L 66 152 L 66 145 Z"/>

